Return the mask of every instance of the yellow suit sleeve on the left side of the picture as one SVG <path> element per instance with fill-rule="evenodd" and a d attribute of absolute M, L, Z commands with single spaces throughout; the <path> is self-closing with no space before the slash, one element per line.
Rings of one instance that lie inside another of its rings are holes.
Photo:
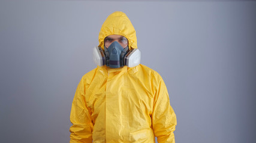
<path fill-rule="evenodd" d="M 70 121 L 70 143 L 92 142 L 92 117 L 91 110 L 85 101 L 85 80 L 82 78 L 76 89 L 72 102 Z"/>

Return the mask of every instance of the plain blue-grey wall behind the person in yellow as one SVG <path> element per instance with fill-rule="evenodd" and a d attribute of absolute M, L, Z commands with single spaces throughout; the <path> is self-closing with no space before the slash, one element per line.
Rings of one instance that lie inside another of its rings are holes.
<path fill-rule="evenodd" d="M 77 84 L 114 11 L 167 85 L 176 142 L 256 141 L 255 1 L 1 1 L 1 142 L 69 142 Z"/>

